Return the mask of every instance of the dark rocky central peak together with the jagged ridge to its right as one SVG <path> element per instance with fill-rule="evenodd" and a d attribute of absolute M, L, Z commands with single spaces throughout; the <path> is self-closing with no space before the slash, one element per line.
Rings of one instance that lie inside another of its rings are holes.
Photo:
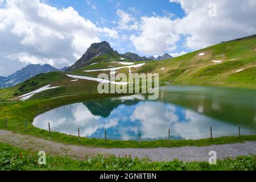
<path fill-rule="evenodd" d="M 163 56 L 158 56 L 155 58 L 154 56 L 145 57 L 139 56 L 136 53 L 127 52 L 124 54 L 119 54 L 117 51 L 114 51 L 112 47 L 110 47 L 109 43 L 104 41 L 101 43 L 92 44 L 87 51 L 82 55 L 82 57 L 76 61 L 71 67 L 67 69 L 67 71 L 73 71 L 75 69 L 79 69 L 84 67 L 85 65 L 89 65 L 95 63 L 97 61 L 102 60 L 127 60 L 127 61 L 151 61 L 151 60 L 164 60 L 170 59 L 172 56 L 167 53 Z"/>

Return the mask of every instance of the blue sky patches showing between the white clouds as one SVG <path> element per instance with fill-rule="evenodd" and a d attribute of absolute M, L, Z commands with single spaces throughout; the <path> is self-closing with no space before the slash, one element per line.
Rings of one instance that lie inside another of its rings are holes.
<path fill-rule="evenodd" d="M 174 14 L 175 18 L 183 18 L 185 13 L 184 10 L 181 9 L 179 3 L 170 3 L 169 0 L 47 0 L 49 5 L 55 6 L 59 9 L 73 7 L 81 16 L 86 19 L 89 19 L 94 24 L 100 27 L 109 27 L 114 28 L 117 27 L 118 16 L 117 11 L 122 10 L 126 13 L 134 16 L 137 20 L 139 20 L 142 16 L 166 16 L 167 14 Z M 133 34 L 137 34 L 137 31 L 125 31 L 122 30 L 121 34 L 126 36 L 131 36 Z M 114 49 L 117 49 L 119 53 L 125 52 L 135 52 L 142 56 L 151 56 L 157 54 L 156 52 L 152 53 L 144 53 L 139 52 L 135 49 L 130 40 L 122 41 L 120 46 L 115 45 L 115 40 L 110 38 L 102 38 L 101 40 L 106 40 L 111 44 Z M 181 51 L 191 51 L 183 47 L 184 39 L 181 38 L 179 42 L 177 42 L 177 52 Z M 167 53 L 170 53 L 166 51 Z"/>

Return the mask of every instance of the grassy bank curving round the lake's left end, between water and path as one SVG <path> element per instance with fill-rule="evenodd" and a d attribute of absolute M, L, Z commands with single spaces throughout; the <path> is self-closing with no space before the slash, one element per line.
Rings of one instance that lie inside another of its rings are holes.
<path fill-rule="evenodd" d="M 179 146 L 208 146 L 211 144 L 225 144 L 225 143 L 238 143 L 245 142 L 246 140 L 256 140 L 256 135 L 238 137 L 220 137 L 213 139 L 200 139 L 200 140 L 155 140 L 155 141 L 142 141 L 138 145 L 137 141 L 129 140 L 107 140 L 107 144 L 103 139 L 89 139 L 80 138 L 67 134 L 52 132 L 49 135 L 48 131 L 38 129 L 32 126 L 34 118 L 46 112 L 47 110 L 54 109 L 59 106 L 73 104 L 76 102 L 89 101 L 92 99 L 100 99 L 106 97 L 116 96 L 115 94 L 78 94 L 73 96 L 48 98 L 44 100 L 31 100 L 26 102 L 16 103 L 1 103 L 0 104 L 0 129 L 14 131 L 20 134 L 31 135 L 38 138 L 47 140 L 54 140 L 56 142 L 92 146 L 92 147 L 105 147 L 105 148 L 154 148 L 154 147 L 179 147 Z M 5 127 L 5 117 L 7 117 L 7 128 Z M 24 122 L 27 119 L 27 131 L 25 131 Z"/>

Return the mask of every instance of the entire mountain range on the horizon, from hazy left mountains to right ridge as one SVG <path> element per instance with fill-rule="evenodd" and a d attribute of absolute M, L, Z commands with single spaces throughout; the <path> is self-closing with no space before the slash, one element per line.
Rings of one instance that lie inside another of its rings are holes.
<path fill-rule="evenodd" d="M 136 53 L 127 52 L 124 54 L 119 54 L 117 51 L 114 51 L 112 47 L 110 47 L 109 43 L 104 41 L 101 43 L 92 44 L 87 51 L 82 55 L 82 57 L 76 61 L 71 67 L 57 69 L 52 67 L 49 64 L 39 65 L 39 64 L 30 64 L 27 67 L 20 69 L 19 71 L 13 73 L 8 77 L 0 76 L 0 88 L 8 88 L 10 86 L 14 86 L 19 84 L 20 82 L 26 81 L 31 77 L 39 75 L 40 73 L 48 73 L 53 71 L 73 71 L 75 69 L 79 69 L 84 67 L 85 65 L 89 65 L 92 63 L 96 63 L 98 61 L 106 60 L 106 61 L 151 61 L 151 60 L 164 60 L 170 59 L 172 56 L 167 53 L 163 56 L 139 56 Z"/>

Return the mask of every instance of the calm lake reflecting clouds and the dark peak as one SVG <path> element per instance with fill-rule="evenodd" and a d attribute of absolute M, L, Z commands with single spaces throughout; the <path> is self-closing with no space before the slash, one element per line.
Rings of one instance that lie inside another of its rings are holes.
<path fill-rule="evenodd" d="M 164 86 L 158 100 L 143 94 L 86 101 L 39 115 L 33 125 L 81 137 L 138 140 L 201 139 L 256 133 L 256 91 L 212 86 Z"/>

